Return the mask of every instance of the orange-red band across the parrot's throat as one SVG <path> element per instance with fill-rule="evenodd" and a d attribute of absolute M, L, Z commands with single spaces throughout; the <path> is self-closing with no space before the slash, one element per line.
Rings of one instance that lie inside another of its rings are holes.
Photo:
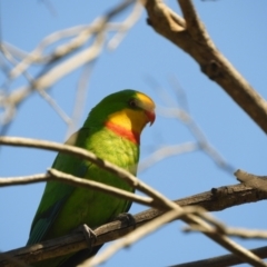
<path fill-rule="evenodd" d="M 130 129 L 125 128 L 123 126 L 113 123 L 112 121 L 107 121 L 105 126 L 113 131 L 116 135 L 128 139 L 129 141 L 139 145 L 140 144 L 140 134 Z"/>

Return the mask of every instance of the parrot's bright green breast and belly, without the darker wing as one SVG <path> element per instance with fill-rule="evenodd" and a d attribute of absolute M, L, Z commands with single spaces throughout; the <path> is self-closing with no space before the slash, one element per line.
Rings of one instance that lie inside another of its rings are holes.
<path fill-rule="evenodd" d="M 108 160 L 136 175 L 139 146 L 127 138 L 122 138 L 112 130 L 103 128 L 88 137 L 83 145 L 99 158 Z M 79 172 L 79 168 L 81 167 L 80 161 L 76 161 L 75 157 L 72 166 L 77 169 L 75 172 Z M 134 191 L 134 188 L 126 181 L 89 161 L 82 162 L 82 169 L 86 170 L 86 179 L 99 181 L 126 191 Z M 65 170 L 61 169 L 61 171 Z M 77 187 L 60 210 L 49 231 L 49 236 L 66 235 L 82 224 L 96 228 L 112 220 L 119 214 L 127 212 L 129 208 L 130 202 L 128 200 L 93 189 Z"/>

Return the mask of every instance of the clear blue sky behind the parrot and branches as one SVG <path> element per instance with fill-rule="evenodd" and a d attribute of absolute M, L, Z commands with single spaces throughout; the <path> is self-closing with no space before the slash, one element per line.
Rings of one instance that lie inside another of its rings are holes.
<path fill-rule="evenodd" d="M 2 39 L 22 50 L 31 51 L 46 36 L 68 27 L 90 23 L 119 1 L 91 2 L 80 0 L 51 1 L 56 14 L 46 1 L 1 1 Z M 167 3 L 180 13 L 176 1 Z M 195 1 L 196 9 L 218 49 L 248 82 L 267 97 L 267 2 L 266 1 Z M 125 18 L 119 16 L 117 20 Z M 219 88 L 200 72 L 199 66 L 146 23 L 146 12 L 115 51 L 105 49 L 97 60 L 87 91 L 82 123 L 89 110 L 105 96 L 125 88 L 149 95 L 155 102 L 162 99 L 148 80 L 155 80 L 175 100 L 169 80 L 175 77 L 186 92 L 190 113 L 209 142 L 236 169 L 266 175 L 267 144 L 263 130 Z M 32 75 L 39 68 L 31 68 Z M 71 115 L 75 92 L 81 70 L 70 73 L 49 89 L 51 97 Z M 4 76 L 0 75 L 1 83 Z M 26 85 L 23 78 L 10 85 L 10 90 Z M 19 108 L 8 135 L 63 142 L 67 125 L 38 95 L 32 93 Z M 178 120 L 157 116 L 141 138 L 141 159 L 165 145 L 195 141 Z M 44 172 L 56 154 L 38 149 L 1 147 L 0 177 Z M 170 199 L 178 199 L 237 184 L 235 177 L 219 169 L 201 151 L 167 158 L 138 175 Z M 24 246 L 44 184 L 1 188 L 0 250 Z M 132 214 L 146 207 L 132 205 Z M 266 202 L 234 207 L 214 215 L 229 226 L 266 227 L 263 216 Z M 182 234 L 184 224 L 176 221 L 144 238 L 129 249 L 116 254 L 106 266 L 166 266 L 225 254 L 226 250 L 201 234 Z M 260 240 L 239 240 L 248 248 L 265 246 Z M 107 245 L 106 245 L 107 246 Z"/>

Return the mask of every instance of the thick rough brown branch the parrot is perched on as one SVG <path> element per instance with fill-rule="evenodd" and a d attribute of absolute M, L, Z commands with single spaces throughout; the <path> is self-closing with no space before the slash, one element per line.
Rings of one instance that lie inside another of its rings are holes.
<path fill-rule="evenodd" d="M 243 184 L 235 186 L 224 186 L 212 188 L 210 191 L 194 195 L 191 197 L 175 200 L 176 204 L 185 206 L 200 206 L 209 211 L 219 211 L 245 202 L 254 202 L 267 199 L 266 191 L 246 187 Z M 162 210 L 148 209 L 135 216 L 136 228 L 162 215 Z M 116 240 L 134 230 L 135 227 L 128 226 L 126 222 L 112 221 L 103 225 L 95 233 L 97 241 L 93 246 Z M 18 248 L 4 253 L 10 257 L 20 259 L 26 264 L 31 264 L 46 258 L 52 258 L 69 253 L 75 253 L 87 248 L 87 243 L 81 233 L 70 234 L 53 240 L 43 241 L 30 247 Z M 0 255 L 1 258 L 1 255 Z M 240 261 L 240 260 L 239 260 Z M 0 259 L 0 266 L 13 266 L 6 258 Z"/>

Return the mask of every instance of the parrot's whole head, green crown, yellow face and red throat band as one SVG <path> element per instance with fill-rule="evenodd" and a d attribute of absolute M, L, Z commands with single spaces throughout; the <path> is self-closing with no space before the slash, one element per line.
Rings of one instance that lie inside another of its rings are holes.
<path fill-rule="evenodd" d="M 155 103 L 142 92 L 122 90 L 103 98 L 89 113 L 91 123 L 106 126 L 116 134 L 139 142 L 147 123 L 155 121 Z M 89 121 L 88 121 L 89 122 Z M 135 138 L 129 138 L 134 136 Z"/>

